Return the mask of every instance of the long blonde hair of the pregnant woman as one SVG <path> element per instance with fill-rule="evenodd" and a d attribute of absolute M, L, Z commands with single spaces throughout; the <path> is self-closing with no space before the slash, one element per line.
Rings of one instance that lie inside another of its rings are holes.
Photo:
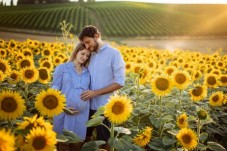
<path fill-rule="evenodd" d="M 78 43 L 78 44 L 74 47 L 73 52 L 71 53 L 68 62 L 73 62 L 73 61 L 75 60 L 75 58 L 76 58 L 77 53 L 78 53 L 79 51 L 84 50 L 84 49 L 86 49 L 85 46 L 84 46 L 84 44 Z M 89 56 L 89 58 L 88 58 L 82 65 L 87 67 L 88 64 L 89 64 L 89 60 L 90 60 L 90 56 Z"/>

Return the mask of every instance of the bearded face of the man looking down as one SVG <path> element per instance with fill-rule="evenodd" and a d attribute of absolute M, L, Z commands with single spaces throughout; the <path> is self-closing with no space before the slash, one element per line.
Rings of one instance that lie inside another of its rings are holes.
<path fill-rule="evenodd" d="M 84 37 L 82 42 L 90 52 L 97 51 L 99 45 L 96 38 Z"/>

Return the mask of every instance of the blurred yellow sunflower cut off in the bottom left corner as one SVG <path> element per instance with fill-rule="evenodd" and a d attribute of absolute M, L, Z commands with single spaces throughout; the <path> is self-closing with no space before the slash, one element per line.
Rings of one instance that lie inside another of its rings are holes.
<path fill-rule="evenodd" d="M 0 151 L 14 151 L 15 137 L 10 131 L 0 130 Z"/>

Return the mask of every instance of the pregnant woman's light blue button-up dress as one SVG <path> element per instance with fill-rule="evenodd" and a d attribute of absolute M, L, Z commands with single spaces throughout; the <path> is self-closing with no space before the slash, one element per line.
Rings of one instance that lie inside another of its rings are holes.
<path fill-rule="evenodd" d="M 66 97 L 66 106 L 79 111 L 77 115 L 67 115 L 64 112 L 54 117 L 54 130 L 62 134 L 63 129 L 73 131 L 81 139 L 85 139 L 88 121 L 90 101 L 83 101 L 80 95 L 89 89 L 90 74 L 87 68 L 83 68 L 81 74 L 75 70 L 73 62 L 61 64 L 56 67 L 53 75 L 52 88 L 61 90 Z"/>

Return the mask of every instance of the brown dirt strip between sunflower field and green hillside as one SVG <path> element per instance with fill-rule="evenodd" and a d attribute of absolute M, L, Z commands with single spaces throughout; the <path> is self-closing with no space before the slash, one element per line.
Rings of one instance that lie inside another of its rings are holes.
<path fill-rule="evenodd" d="M 26 39 L 46 41 L 46 42 L 55 42 L 57 36 L 55 35 L 37 35 L 37 34 L 25 34 L 25 33 L 14 33 L 14 32 L 3 32 L 0 31 L 0 39 L 3 40 L 17 40 L 17 41 L 25 41 Z M 62 38 L 58 36 L 61 40 Z M 216 39 L 205 39 L 205 38 L 197 38 L 197 39 L 189 39 L 189 38 L 175 38 L 175 39 L 162 39 L 162 40 L 154 40 L 154 39 L 117 39 L 122 44 L 132 47 L 152 47 L 158 49 L 184 49 L 184 50 L 193 50 L 193 51 L 201 51 L 208 52 L 215 51 L 219 48 L 223 49 L 223 52 L 227 54 L 227 39 L 226 38 L 216 38 Z"/>

